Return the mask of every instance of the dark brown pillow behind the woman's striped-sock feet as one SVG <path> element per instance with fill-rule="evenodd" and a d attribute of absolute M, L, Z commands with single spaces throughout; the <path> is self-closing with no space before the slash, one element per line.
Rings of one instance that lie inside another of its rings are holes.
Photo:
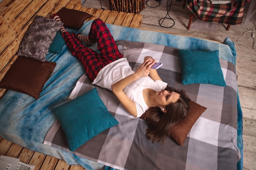
<path fill-rule="evenodd" d="M 64 27 L 66 28 L 81 28 L 83 22 L 92 17 L 89 13 L 67 9 L 66 7 L 60 9 L 57 15 L 61 18 L 61 22 L 64 23 Z"/>

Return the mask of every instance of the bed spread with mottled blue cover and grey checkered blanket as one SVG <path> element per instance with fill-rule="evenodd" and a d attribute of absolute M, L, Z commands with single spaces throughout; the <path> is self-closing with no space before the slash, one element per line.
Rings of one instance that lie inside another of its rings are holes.
<path fill-rule="evenodd" d="M 69 31 L 86 35 L 91 22 L 84 22 L 81 29 Z M 174 87 L 184 88 L 193 102 L 207 108 L 189 129 L 182 146 L 171 137 L 164 144 L 152 144 L 146 139 L 146 121 L 129 116 L 111 91 L 92 85 L 83 66 L 65 45 L 59 54 L 47 53 L 46 61 L 55 62 L 56 66 L 53 66 L 38 99 L 16 91 L 7 91 L 2 97 L 0 136 L 87 170 L 110 167 L 119 170 L 242 169 L 242 112 L 234 43 L 229 38 L 218 43 L 112 24 L 107 26 L 132 68 L 141 63 L 142 56 L 154 54 L 157 60 L 164 62 L 159 68 L 163 80 Z M 91 48 L 96 49 L 96 46 Z M 184 85 L 179 49 L 218 50 L 216 53 L 226 87 L 205 83 Z M 72 152 L 54 109 L 92 89 L 97 89 L 103 104 L 118 124 L 95 135 Z"/>

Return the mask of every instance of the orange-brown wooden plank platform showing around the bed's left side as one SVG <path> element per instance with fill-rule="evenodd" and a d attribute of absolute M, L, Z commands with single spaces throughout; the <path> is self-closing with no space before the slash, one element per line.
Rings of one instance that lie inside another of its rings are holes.
<path fill-rule="evenodd" d="M 100 18 L 108 24 L 138 28 L 141 14 L 82 7 L 80 0 L 4 0 L 0 3 L 0 79 L 18 57 L 16 52 L 22 38 L 36 15 L 51 18 L 62 7 L 90 13 L 88 20 Z M 0 97 L 6 89 L 0 89 Z M 34 170 L 85 170 L 68 165 L 61 159 L 23 148 L 0 137 L 0 155 L 19 158 L 21 162 L 35 165 Z"/>

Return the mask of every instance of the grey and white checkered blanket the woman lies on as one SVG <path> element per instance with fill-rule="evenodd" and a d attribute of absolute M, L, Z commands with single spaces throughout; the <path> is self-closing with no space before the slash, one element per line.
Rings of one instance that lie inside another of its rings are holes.
<path fill-rule="evenodd" d="M 236 170 L 240 150 L 236 144 L 235 65 L 220 59 L 227 87 L 212 84 L 183 85 L 177 49 L 128 41 L 117 41 L 117 45 L 134 70 L 146 55 L 163 62 L 164 65 L 158 69 L 163 81 L 175 88 L 183 88 L 191 100 L 207 107 L 207 110 L 196 121 L 182 147 L 171 138 L 164 144 L 152 144 L 145 137 L 146 122 L 130 116 L 111 91 L 97 86 L 103 103 L 119 124 L 93 137 L 73 154 L 119 170 Z M 69 99 L 94 87 L 85 74 L 76 83 Z M 71 152 L 58 120 L 48 131 L 45 144 Z"/>

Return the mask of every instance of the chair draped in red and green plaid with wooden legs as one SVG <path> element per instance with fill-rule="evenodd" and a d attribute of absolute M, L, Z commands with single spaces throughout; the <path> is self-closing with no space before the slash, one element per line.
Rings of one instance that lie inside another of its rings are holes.
<path fill-rule="evenodd" d="M 228 4 L 211 4 L 210 0 L 184 0 L 185 5 L 191 11 L 188 30 L 195 15 L 200 20 L 227 24 L 227 31 L 231 25 L 242 23 L 243 12 L 246 2 L 251 0 L 232 0 Z"/>

